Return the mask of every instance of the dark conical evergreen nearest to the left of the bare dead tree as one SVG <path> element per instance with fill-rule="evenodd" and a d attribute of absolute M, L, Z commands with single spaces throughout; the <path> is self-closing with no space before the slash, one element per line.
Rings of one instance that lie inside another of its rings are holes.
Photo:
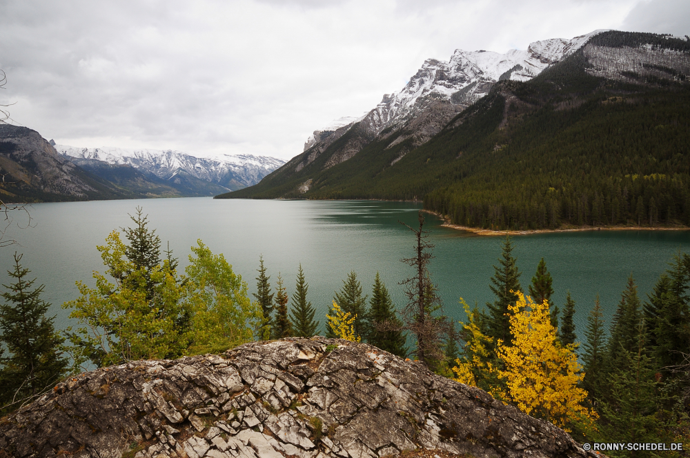
<path fill-rule="evenodd" d="M 402 321 L 395 316 L 395 306 L 388 295 L 386 285 L 376 272 L 371 299 L 369 301 L 371 333 L 369 344 L 393 353 L 401 358 L 406 357 L 406 335 L 402 332 Z"/>

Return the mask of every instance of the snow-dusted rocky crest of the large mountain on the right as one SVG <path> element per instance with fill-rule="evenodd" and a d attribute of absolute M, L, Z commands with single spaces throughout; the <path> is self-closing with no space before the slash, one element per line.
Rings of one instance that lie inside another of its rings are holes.
<path fill-rule="evenodd" d="M 389 126 L 400 125 L 424 110 L 434 101 L 451 101 L 460 108 L 484 97 L 491 86 L 502 79 L 527 81 L 545 68 L 580 49 L 591 37 L 604 30 L 595 30 L 573 39 L 547 39 L 530 43 L 526 50 L 493 51 L 455 50 L 447 62 L 427 59 L 420 70 L 399 92 L 384 94 L 382 101 L 364 117 L 342 117 L 325 128 L 315 130 L 304 144 L 311 148 L 338 128 L 364 121 L 374 133 Z"/>

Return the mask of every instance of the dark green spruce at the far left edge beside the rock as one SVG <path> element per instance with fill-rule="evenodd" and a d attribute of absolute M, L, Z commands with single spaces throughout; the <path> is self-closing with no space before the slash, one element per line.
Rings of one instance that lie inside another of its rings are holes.
<path fill-rule="evenodd" d="M 8 351 L 8 356 L 0 352 L 0 410 L 6 411 L 50 390 L 68 366 L 59 350 L 64 339 L 55 332 L 55 317 L 46 317 L 50 304 L 41 299 L 44 287 L 32 289 L 36 279 L 26 279 L 30 270 L 21 267 L 21 257 L 14 253 L 14 270 L 8 274 L 15 283 L 3 284 L 7 291 L 0 305 L 0 342 Z"/>

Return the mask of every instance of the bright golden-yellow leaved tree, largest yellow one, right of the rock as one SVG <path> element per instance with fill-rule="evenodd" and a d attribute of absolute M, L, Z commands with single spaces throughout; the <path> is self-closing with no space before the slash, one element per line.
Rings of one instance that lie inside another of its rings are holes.
<path fill-rule="evenodd" d="M 513 346 L 497 343 L 497 355 L 505 370 L 509 401 L 533 417 L 551 421 L 566 430 L 569 424 L 591 424 L 596 412 L 582 406 L 587 392 L 578 388 L 584 377 L 573 345 L 561 346 L 551 325 L 549 303 L 535 303 L 516 292 L 509 306 Z"/>

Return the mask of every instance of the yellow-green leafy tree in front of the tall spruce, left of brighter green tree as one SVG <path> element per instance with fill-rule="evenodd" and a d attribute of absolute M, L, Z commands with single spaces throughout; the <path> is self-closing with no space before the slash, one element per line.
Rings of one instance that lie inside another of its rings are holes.
<path fill-rule="evenodd" d="M 175 357 L 187 348 L 189 330 L 177 323 L 188 321 L 190 310 L 179 303 L 182 286 L 177 273 L 168 261 L 150 271 L 137 268 L 127 259 L 126 248 L 119 233 L 111 232 L 106 245 L 97 249 L 115 283 L 94 272 L 96 287 L 77 281 L 80 296 L 63 304 L 72 309 L 70 318 L 80 326 L 66 331 L 74 370 L 87 361 L 103 367 L 132 359 Z"/>

